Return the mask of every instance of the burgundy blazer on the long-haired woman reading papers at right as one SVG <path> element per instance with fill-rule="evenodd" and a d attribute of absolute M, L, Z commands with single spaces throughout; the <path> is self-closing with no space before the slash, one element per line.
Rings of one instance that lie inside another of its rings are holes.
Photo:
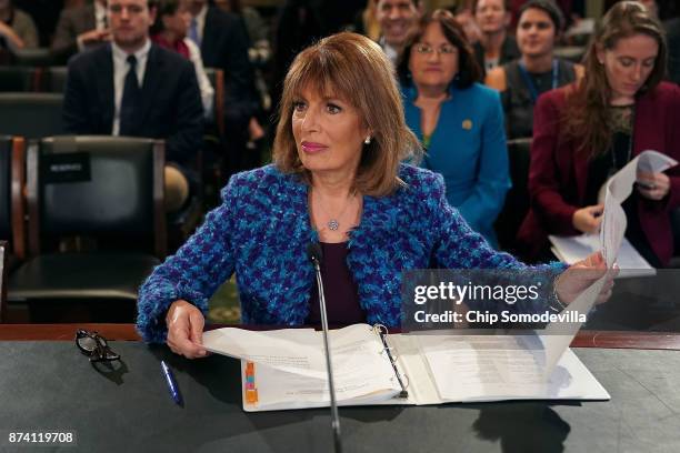
<path fill-rule="evenodd" d="M 574 211 L 584 205 L 588 161 L 577 157 L 577 140 L 561 131 L 566 93 L 573 84 L 542 94 L 536 105 L 529 194 L 531 208 L 518 233 L 529 256 L 546 250 L 548 234 L 579 234 L 572 224 Z M 680 161 L 680 88 L 661 82 L 636 102 L 632 155 L 657 150 Z M 583 154 L 580 154 L 583 155 Z M 638 213 L 649 243 L 664 265 L 673 254 L 669 211 L 680 205 L 680 165 L 667 171 L 669 195 L 660 201 L 640 198 Z"/>

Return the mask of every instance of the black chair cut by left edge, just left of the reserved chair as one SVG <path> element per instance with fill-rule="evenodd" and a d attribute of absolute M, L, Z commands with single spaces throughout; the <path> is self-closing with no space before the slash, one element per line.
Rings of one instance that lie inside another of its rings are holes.
<path fill-rule="evenodd" d="M 0 240 L 8 242 L 9 268 L 26 258 L 26 142 L 0 135 Z"/>

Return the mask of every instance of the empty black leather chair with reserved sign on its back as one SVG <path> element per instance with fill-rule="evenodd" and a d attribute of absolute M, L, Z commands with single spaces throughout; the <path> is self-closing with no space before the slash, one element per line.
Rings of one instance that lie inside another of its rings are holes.
<path fill-rule="evenodd" d="M 27 160 L 30 259 L 9 303 L 32 322 L 132 322 L 137 290 L 166 254 L 164 145 L 49 138 Z M 66 251 L 64 251 L 66 250 Z"/>

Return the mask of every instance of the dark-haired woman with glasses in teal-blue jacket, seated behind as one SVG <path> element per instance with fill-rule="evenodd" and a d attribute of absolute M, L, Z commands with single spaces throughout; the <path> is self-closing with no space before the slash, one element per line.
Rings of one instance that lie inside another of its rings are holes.
<path fill-rule="evenodd" d="M 406 121 L 422 141 L 422 167 L 444 177 L 449 204 L 497 246 L 493 221 L 510 174 L 499 94 L 448 11 L 426 14 L 399 67 Z"/>

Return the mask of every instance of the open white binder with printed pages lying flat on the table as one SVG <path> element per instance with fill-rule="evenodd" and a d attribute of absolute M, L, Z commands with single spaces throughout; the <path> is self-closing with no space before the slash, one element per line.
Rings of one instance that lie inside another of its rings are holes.
<path fill-rule="evenodd" d="M 356 324 L 331 331 L 329 340 L 339 405 L 609 399 L 571 351 L 546 378 L 539 336 L 391 334 L 383 339 L 370 325 Z M 203 344 L 241 359 L 244 383 L 246 361 L 254 362 L 258 401 L 248 403 L 243 390 L 246 411 L 329 405 L 321 332 L 229 328 L 206 332 Z M 400 380 L 408 397 L 400 397 Z"/>

